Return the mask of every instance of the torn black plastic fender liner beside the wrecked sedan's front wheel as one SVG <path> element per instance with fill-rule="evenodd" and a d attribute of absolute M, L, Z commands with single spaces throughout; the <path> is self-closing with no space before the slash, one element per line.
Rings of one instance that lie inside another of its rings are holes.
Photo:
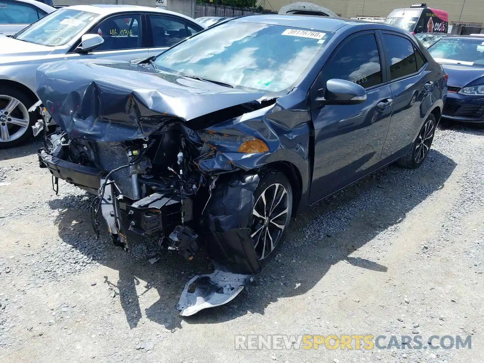
<path fill-rule="evenodd" d="M 202 215 L 209 256 L 226 272 L 255 274 L 262 267 L 250 236 L 256 172 L 219 177 Z"/>

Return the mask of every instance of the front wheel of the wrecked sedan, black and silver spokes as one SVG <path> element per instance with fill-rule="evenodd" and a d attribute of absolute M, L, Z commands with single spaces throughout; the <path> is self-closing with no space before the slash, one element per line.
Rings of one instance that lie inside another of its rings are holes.
<path fill-rule="evenodd" d="M 282 246 L 292 212 L 292 188 L 286 175 L 272 169 L 259 173 L 254 192 L 251 237 L 262 265 Z"/>

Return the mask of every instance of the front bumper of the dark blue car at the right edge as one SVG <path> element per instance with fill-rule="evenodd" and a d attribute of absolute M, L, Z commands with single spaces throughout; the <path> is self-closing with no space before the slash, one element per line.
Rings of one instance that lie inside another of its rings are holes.
<path fill-rule="evenodd" d="M 484 97 L 448 92 L 442 118 L 463 122 L 484 122 Z"/>

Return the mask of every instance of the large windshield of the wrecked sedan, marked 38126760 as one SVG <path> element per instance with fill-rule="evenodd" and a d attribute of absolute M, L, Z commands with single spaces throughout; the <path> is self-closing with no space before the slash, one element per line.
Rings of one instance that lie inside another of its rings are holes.
<path fill-rule="evenodd" d="M 229 21 L 160 54 L 158 69 L 233 87 L 287 93 L 332 33 Z"/>

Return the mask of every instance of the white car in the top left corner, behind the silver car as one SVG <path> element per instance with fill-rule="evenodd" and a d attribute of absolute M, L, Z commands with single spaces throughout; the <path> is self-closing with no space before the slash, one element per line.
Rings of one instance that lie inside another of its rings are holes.
<path fill-rule="evenodd" d="M 0 34 L 15 34 L 54 11 L 36 0 L 0 0 Z"/>

